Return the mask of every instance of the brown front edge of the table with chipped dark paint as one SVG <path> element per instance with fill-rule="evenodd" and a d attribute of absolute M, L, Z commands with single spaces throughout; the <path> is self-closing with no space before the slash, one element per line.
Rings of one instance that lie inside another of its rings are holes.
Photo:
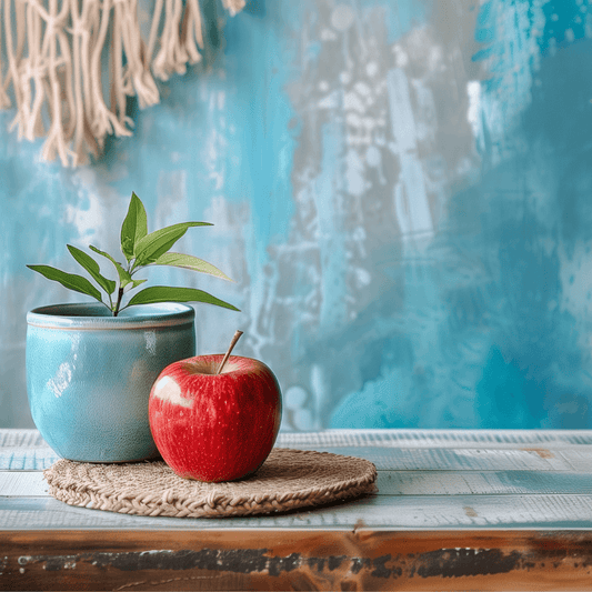
<path fill-rule="evenodd" d="M 590 590 L 590 533 L 6 532 L 10 590 Z"/>

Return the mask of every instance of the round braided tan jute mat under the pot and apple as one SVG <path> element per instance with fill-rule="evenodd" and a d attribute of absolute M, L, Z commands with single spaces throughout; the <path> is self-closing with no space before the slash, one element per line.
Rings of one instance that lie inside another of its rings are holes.
<path fill-rule="evenodd" d="M 70 505 L 149 516 L 220 518 L 324 505 L 375 491 L 370 461 L 273 449 L 249 479 L 202 483 L 164 462 L 91 464 L 60 460 L 43 471 L 49 492 Z"/>

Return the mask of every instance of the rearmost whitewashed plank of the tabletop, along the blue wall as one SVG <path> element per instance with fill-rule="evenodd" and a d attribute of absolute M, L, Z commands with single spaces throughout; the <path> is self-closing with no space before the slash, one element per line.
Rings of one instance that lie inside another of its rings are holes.
<path fill-rule="evenodd" d="M 364 430 L 282 433 L 278 446 L 368 458 L 390 470 L 572 470 L 592 472 L 592 432 Z M 0 430 L 0 470 L 43 470 L 59 456 L 37 430 Z M 573 462 L 572 462 L 573 460 Z"/>

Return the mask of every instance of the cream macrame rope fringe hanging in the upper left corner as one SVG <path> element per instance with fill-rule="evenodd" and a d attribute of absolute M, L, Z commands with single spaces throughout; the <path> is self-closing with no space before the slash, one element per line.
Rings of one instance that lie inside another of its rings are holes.
<path fill-rule="evenodd" d="M 245 2 L 222 3 L 234 16 Z M 183 74 L 201 60 L 201 27 L 199 0 L 154 0 L 148 41 L 138 0 L 0 0 L 0 109 L 12 106 L 10 87 L 17 108 L 9 129 L 19 140 L 46 137 L 43 160 L 88 162 L 107 136 L 132 134 L 127 97 L 153 106 L 154 78 Z"/>

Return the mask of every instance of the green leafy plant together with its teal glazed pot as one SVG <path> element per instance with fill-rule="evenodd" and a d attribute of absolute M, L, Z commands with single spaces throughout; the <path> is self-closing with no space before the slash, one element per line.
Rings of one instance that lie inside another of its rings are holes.
<path fill-rule="evenodd" d="M 72 245 L 70 254 L 98 288 L 82 275 L 28 265 L 97 300 L 27 314 L 29 405 L 41 435 L 60 456 L 83 462 L 158 458 L 148 421 L 150 389 L 167 365 L 195 355 L 194 310 L 184 302 L 239 309 L 192 288 L 154 285 L 128 294 L 147 281 L 134 275 L 152 265 L 230 280 L 201 259 L 170 252 L 189 228 L 200 225 L 211 224 L 183 222 L 149 233 L 146 209 L 132 193 L 121 227 L 124 261 L 89 245 L 114 267 L 117 281 L 101 273 L 98 260 Z"/>

